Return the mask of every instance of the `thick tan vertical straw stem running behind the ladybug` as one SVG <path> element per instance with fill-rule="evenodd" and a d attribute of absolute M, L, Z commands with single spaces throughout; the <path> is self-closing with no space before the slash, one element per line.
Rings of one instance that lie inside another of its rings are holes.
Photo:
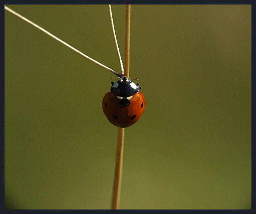
<path fill-rule="evenodd" d="M 131 17 L 131 5 L 126 5 L 124 75 L 127 77 L 129 77 L 129 69 L 130 69 L 130 17 Z M 116 167 L 115 167 L 115 177 L 114 177 L 111 209 L 119 209 L 119 204 L 120 204 L 120 192 L 121 192 L 122 171 L 123 171 L 123 146 L 124 146 L 124 128 L 118 128 Z"/>

